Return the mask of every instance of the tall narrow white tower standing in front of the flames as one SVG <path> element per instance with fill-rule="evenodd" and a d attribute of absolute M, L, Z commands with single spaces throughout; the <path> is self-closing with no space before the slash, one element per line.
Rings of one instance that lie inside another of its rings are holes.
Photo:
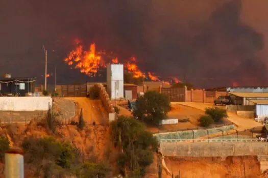
<path fill-rule="evenodd" d="M 124 65 L 107 65 L 107 92 L 111 99 L 124 98 Z"/>

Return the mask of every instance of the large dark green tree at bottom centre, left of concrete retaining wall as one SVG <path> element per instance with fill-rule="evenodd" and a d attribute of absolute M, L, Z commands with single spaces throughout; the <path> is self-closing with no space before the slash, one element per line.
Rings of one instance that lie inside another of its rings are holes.
<path fill-rule="evenodd" d="M 120 170 L 124 172 L 128 165 L 131 172 L 139 172 L 139 177 L 142 177 L 145 168 L 153 162 L 153 152 L 158 150 L 157 139 L 145 131 L 143 123 L 127 116 L 119 116 L 112 122 L 111 134 L 116 146 L 123 149 L 117 159 Z"/>

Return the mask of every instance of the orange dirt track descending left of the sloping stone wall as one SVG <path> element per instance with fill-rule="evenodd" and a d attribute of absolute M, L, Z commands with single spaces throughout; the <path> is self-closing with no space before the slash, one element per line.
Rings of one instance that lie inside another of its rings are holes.
<path fill-rule="evenodd" d="M 101 100 L 90 100 L 89 98 L 66 98 L 74 100 L 78 103 L 80 108 L 83 108 L 84 120 L 92 124 L 108 124 L 108 113 L 105 110 Z"/>

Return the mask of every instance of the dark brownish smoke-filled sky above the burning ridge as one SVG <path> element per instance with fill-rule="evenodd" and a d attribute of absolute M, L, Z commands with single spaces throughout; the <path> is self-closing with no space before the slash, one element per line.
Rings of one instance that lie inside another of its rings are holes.
<path fill-rule="evenodd" d="M 267 85 L 267 16 L 267 0 L 3 1 L 0 71 L 42 83 L 44 44 L 58 83 L 94 81 L 63 62 L 79 38 L 198 87 Z"/>

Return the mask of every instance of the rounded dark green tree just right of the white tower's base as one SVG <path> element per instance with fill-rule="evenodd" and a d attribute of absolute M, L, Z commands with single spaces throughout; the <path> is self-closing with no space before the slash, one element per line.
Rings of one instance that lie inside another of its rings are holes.
<path fill-rule="evenodd" d="M 166 95 L 148 91 L 136 100 L 133 115 L 145 123 L 159 125 L 169 110 L 170 103 Z"/>

